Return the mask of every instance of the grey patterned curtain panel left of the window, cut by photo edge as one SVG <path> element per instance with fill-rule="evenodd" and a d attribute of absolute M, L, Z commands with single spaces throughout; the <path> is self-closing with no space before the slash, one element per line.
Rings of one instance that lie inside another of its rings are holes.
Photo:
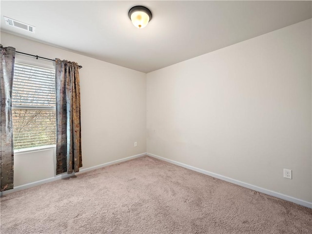
<path fill-rule="evenodd" d="M 0 77 L 0 177 L 1 191 L 13 189 L 13 128 L 12 86 L 14 76 L 15 48 L 1 45 Z"/>

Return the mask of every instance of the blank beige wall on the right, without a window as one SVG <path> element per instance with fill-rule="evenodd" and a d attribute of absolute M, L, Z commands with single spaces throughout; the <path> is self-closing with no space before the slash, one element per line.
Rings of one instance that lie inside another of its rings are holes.
<path fill-rule="evenodd" d="M 311 28 L 148 73 L 147 152 L 311 202 Z"/>

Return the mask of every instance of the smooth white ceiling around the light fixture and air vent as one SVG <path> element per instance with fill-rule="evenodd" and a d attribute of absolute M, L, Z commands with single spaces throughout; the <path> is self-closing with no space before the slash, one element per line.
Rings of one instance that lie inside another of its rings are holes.
<path fill-rule="evenodd" d="M 312 1 L 1 0 L 0 4 L 3 32 L 145 73 L 312 18 Z M 135 5 L 152 11 L 153 19 L 143 29 L 128 18 Z M 5 25 L 3 16 L 36 26 L 36 33 Z"/>

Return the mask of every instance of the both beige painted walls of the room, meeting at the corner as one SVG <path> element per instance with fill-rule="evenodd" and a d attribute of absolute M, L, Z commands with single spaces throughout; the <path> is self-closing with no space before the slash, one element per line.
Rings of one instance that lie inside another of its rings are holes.
<path fill-rule="evenodd" d="M 1 44 L 83 66 L 83 169 L 148 152 L 311 202 L 311 26 L 306 20 L 147 75 L 6 33 Z M 54 164 L 54 149 L 16 154 L 15 186 L 55 176 Z"/>

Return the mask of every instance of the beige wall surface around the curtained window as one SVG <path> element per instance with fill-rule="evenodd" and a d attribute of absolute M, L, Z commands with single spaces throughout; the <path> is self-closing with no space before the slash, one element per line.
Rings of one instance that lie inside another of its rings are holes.
<path fill-rule="evenodd" d="M 45 58 L 78 62 L 82 164 L 90 168 L 146 152 L 146 74 L 1 33 L 1 44 Z M 87 46 L 87 45 L 86 45 Z M 54 68 L 54 62 L 17 54 L 16 61 Z M 134 142 L 137 141 L 137 147 Z M 55 150 L 17 154 L 14 186 L 55 176 Z"/>

